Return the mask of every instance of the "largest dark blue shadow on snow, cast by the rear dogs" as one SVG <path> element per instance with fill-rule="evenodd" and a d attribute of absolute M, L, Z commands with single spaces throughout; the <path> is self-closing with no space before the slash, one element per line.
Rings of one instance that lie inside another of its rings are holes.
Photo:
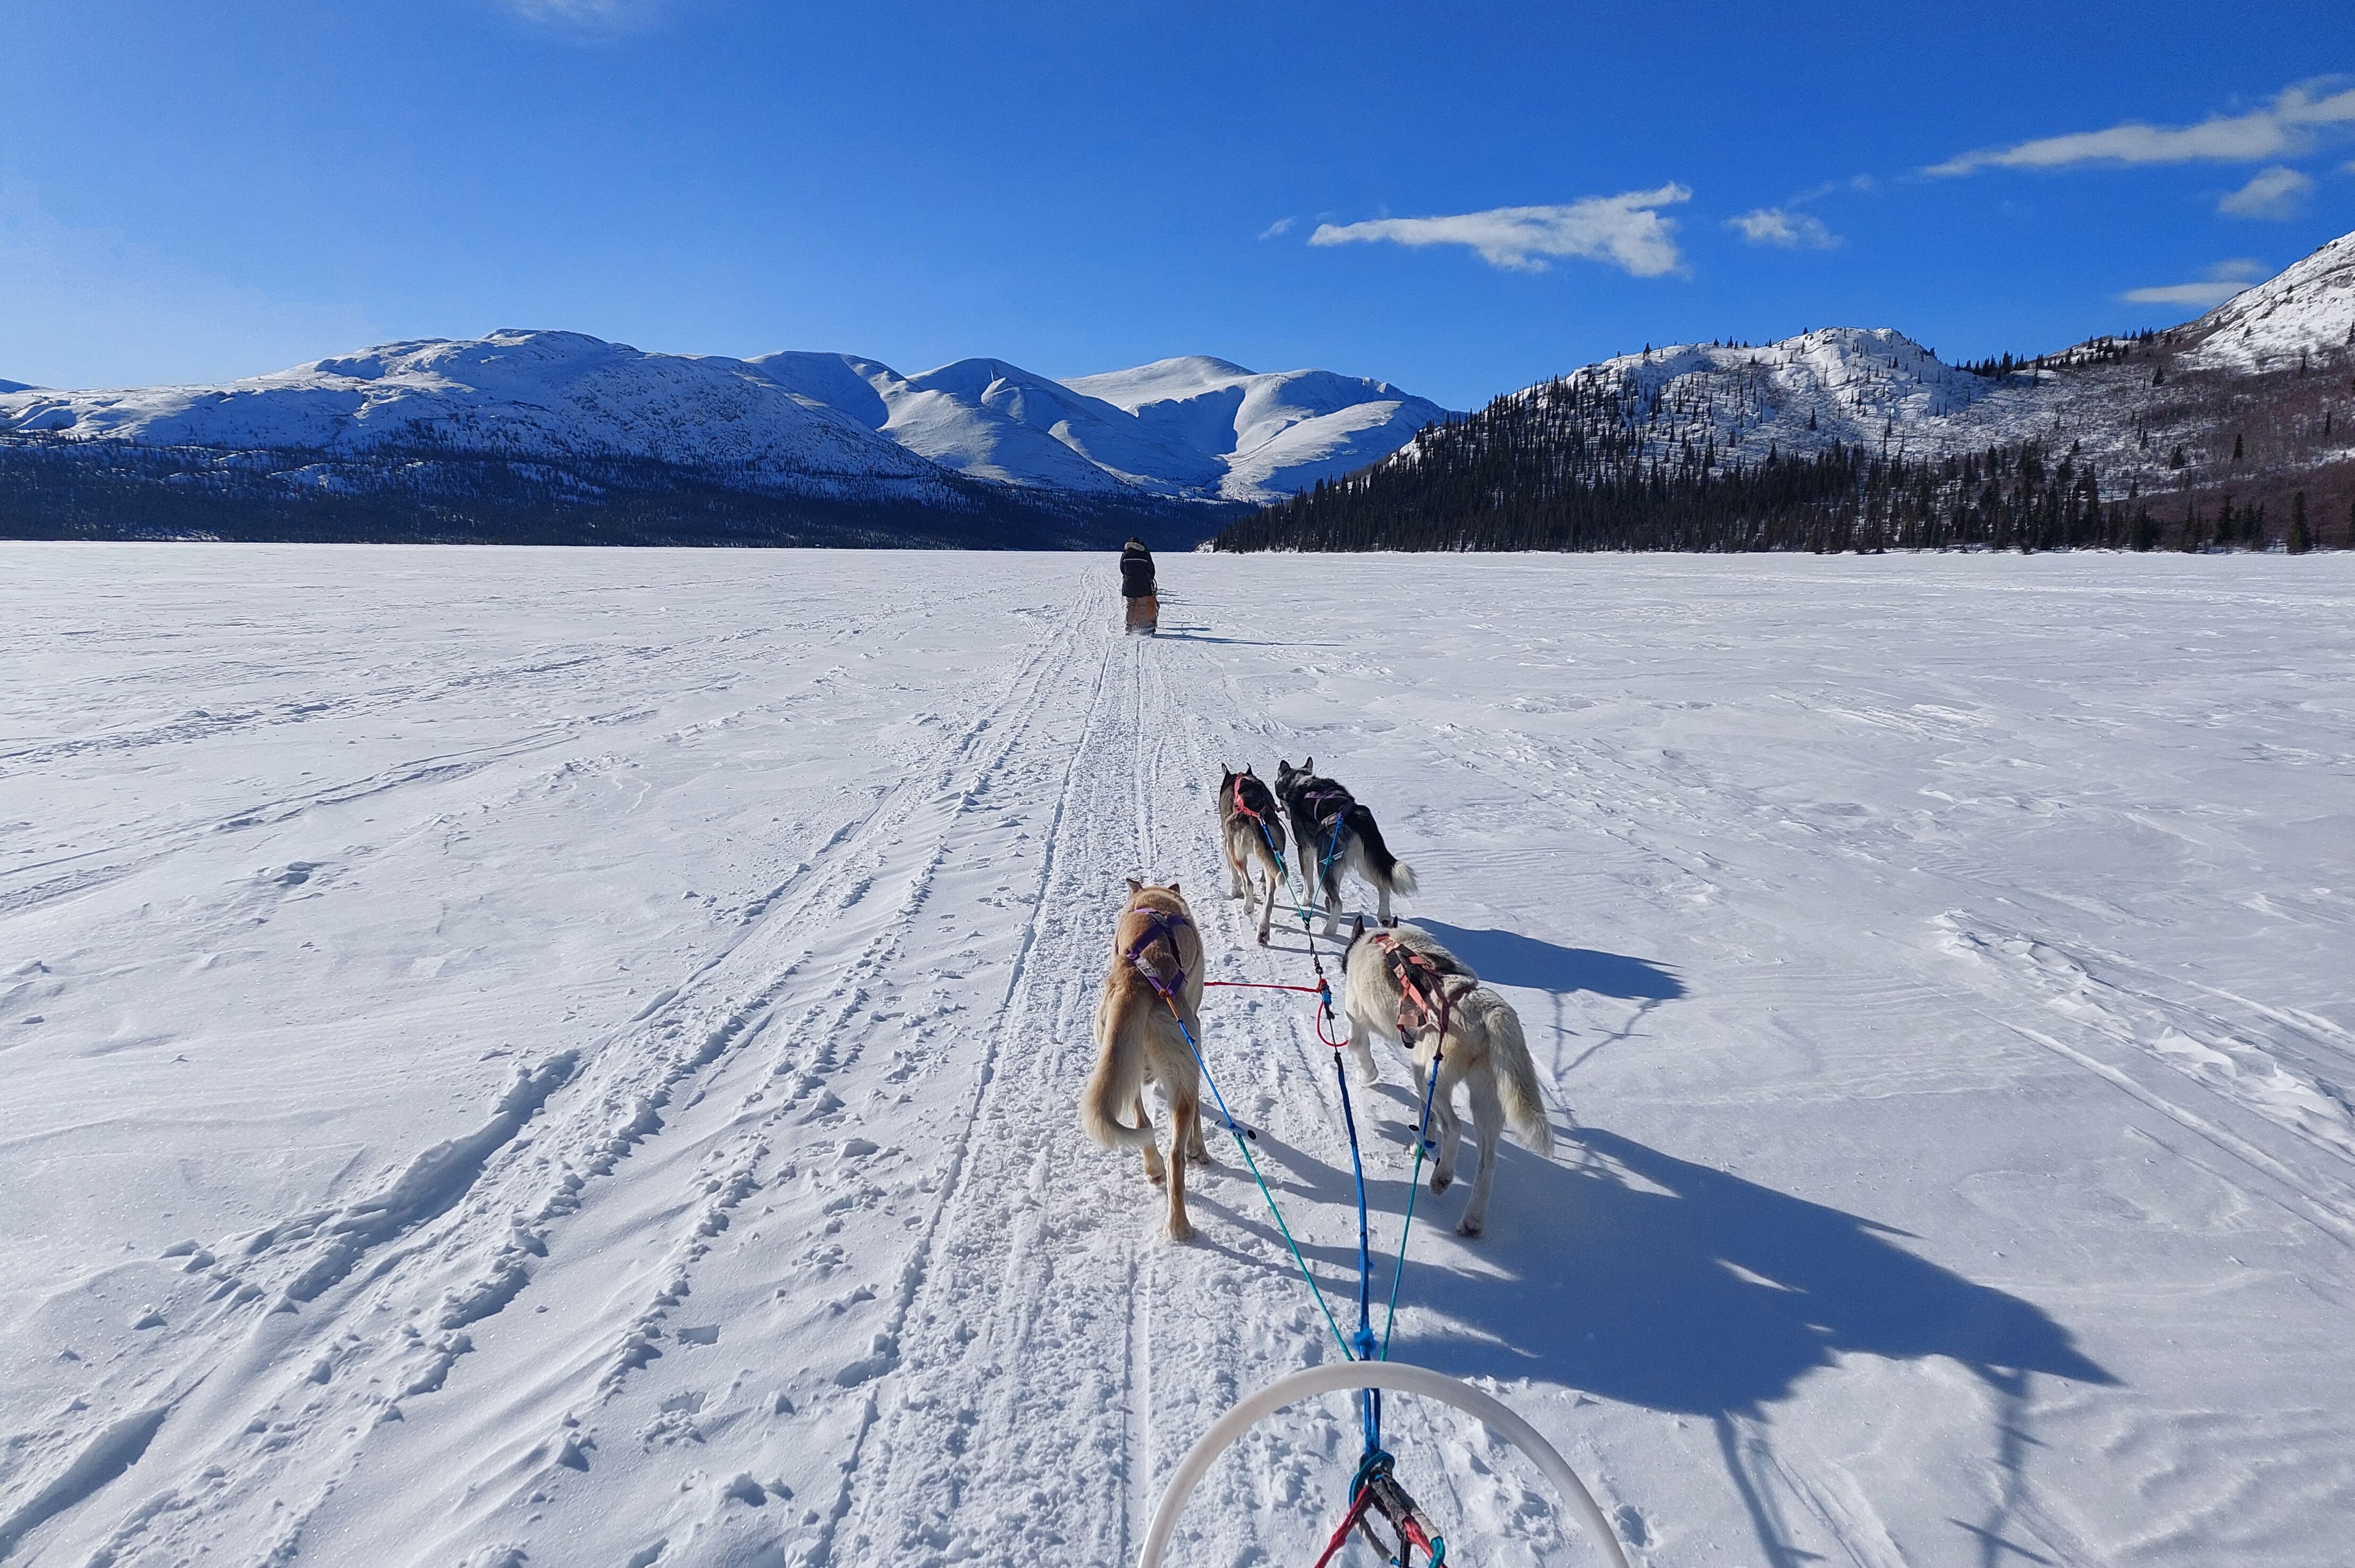
<path fill-rule="evenodd" d="M 1401 1083 L 1373 1092 L 1352 1085 L 1352 1099 L 1368 1165 L 1380 1333 L 1420 1104 Z M 1910 1253 L 1900 1245 L 1908 1231 L 1604 1128 L 1554 1132 L 1552 1161 L 1510 1140 L 1500 1147 L 1488 1234 L 1477 1241 L 1444 1234 L 1470 1196 L 1470 1125 L 1446 1194 L 1429 1191 L 1425 1168 L 1392 1354 L 1455 1377 L 1528 1377 L 1707 1420 L 1773 1568 L 1802 1568 L 1811 1556 L 1783 1537 L 1773 1464 L 1762 1457 L 1766 1439 L 1743 1422 L 1759 1422 L 1809 1375 L 1858 1354 L 1969 1368 L 1999 1410 L 1995 1460 L 2009 1476 L 2006 1497 L 2018 1495 L 2035 1448 L 2028 1375 L 2117 1384 L 2042 1307 Z M 1260 1163 L 1279 1191 L 1354 1205 L 1347 1168 L 1283 1144 L 1262 1151 Z M 1255 1203 L 1258 1194 L 1239 1194 L 1236 1203 L 1243 1198 Z M 1281 1248 L 1265 1208 L 1234 1210 L 1234 1220 Z M 1345 1328 L 1356 1295 L 1354 1224 L 1349 1231 L 1295 1231 Z M 1291 1260 L 1276 1250 L 1262 1267 L 1288 1271 Z M 1966 1549 L 1992 1566 L 2021 1552 L 1999 1535 L 2006 1516 L 2009 1502 L 1985 1526 L 1955 1526 L 1973 1537 Z"/>

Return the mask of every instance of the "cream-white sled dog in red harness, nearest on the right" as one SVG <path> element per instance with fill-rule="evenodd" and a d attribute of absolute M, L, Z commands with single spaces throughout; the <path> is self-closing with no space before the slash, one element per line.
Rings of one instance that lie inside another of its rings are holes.
<path fill-rule="evenodd" d="M 1479 1236 L 1488 1224 L 1488 1184 L 1495 1180 L 1495 1140 L 1512 1123 L 1540 1156 L 1552 1156 L 1554 1130 L 1545 1121 L 1538 1095 L 1538 1067 L 1521 1038 L 1521 1017 L 1484 986 L 1455 954 L 1432 942 L 1413 925 L 1366 930 L 1359 916 L 1342 954 L 1345 998 L 1349 1012 L 1349 1050 L 1356 1052 L 1356 1076 L 1375 1081 L 1368 1034 L 1397 1041 L 1415 1067 L 1415 1114 L 1422 1114 L 1425 1074 L 1439 1057 L 1439 1088 L 1432 1090 L 1432 1137 L 1439 1161 L 1432 1165 L 1432 1191 L 1446 1191 L 1455 1180 L 1455 1085 L 1472 1090 L 1472 1135 L 1479 1140 L 1479 1170 L 1472 1175 L 1472 1201 L 1455 1224 L 1465 1236 Z"/>

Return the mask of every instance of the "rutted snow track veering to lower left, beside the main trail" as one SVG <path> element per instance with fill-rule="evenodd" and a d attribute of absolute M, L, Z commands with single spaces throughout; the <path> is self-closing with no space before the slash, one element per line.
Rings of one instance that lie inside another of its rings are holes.
<path fill-rule="evenodd" d="M 111 1530 L 106 1552 L 130 1568 L 148 1554 L 200 1547 L 219 1537 L 224 1514 L 247 1511 L 261 1493 L 283 1488 L 304 1502 L 290 1497 L 285 1511 L 273 1509 L 276 1519 L 257 1540 L 271 1537 L 292 1556 L 309 1514 L 332 1495 L 367 1431 L 384 1420 L 389 1391 L 419 1396 L 452 1375 L 464 1377 L 455 1368 L 471 1349 L 469 1330 L 478 1333 L 483 1318 L 528 1290 L 535 1257 L 563 1245 L 572 1215 L 596 1203 L 598 1180 L 666 1130 L 674 1092 L 761 1034 L 810 956 L 810 916 L 857 902 L 885 859 L 885 841 L 928 812 L 933 850 L 909 888 L 911 899 L 921 897 L 940 862 L 940 833 L 1020 744 L 1041 683 L 1069 662 L 1069 626 L 1079 614 L 1083 600 L 1064 610 L 1062 626 L 1039 640 L 980 716 L 935 746 L 928 765 L 836 831 L 810 866 L 758 902 L 756 918 L 641 1005 L 629 1024 L 518 1074 L 490 1123 L 419 1156 L 377 1198 L 292 1215 L 203 1248 L 191 1260 L 186 1290 L 162 1302 L 167 1326 L 146 1342 L 139 1363 L 125 1368 L 127 1377 L 115 1375 L 99 1389 L 85 1427 L 97 1431 L 111 1408 L 177 1413 L 181 1420 L 165 1420 L 160 1441 L 177 1453 L 210 1453 L 226 1479 L 207 1497 L 179 1497 L 172 1509 L 125 1519 Z M 1006 723 L 1008 713 L 1020 723 Z M 904 932 L 902 909 L 848 965 L 831 1001 L 808 1001 L 803 1022 L 822 1026 L 838 1017 L 848 1005 L 841 991 L 871 972 Z M 822 1050 L 796 1062 L 803 1095 L 822 1081 L 812 1076 L 824 1067 Z M 765 1121 L 796 1104 L 798 1095 L 787 1095 Z M 530 1137 L 518 1140 L 525 1128 Z M 744 1182 L 756 1182 L 756 1161 L 758 1154 L 737 1172 L 735 1198 L 749 1191 Z M 690 1222 L 702 1212 L 695 1205 Z M 363 1311 L 370 1316 L 360 1318 L 360 1333 L 346 1333 Z M 403 1335 L 384 1333 L 403 1321 Z M 212 1380 L 219 1394 L 200 1394 L 210 1373 L 224 1366 L 236 1375 Z M 280 1406 L 304 1406 L 306 1415 L 271 1422 Z M 266 1441 L 257 1443 L 259 1434 Z M 75 1441 L 71 1429 L 52 1439 L 61 1453 Z M 188 1474 L 200 1464 L 174 1469 Z"/>

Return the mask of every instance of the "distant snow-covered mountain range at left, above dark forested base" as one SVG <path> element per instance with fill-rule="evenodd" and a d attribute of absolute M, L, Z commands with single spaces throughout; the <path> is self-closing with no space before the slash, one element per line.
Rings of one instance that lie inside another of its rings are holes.
<path fill-rule="evenodd" d="M 579 332 L 382 344 L 221 386 L 0 384 L 0 433 L 358 457 L 629 457 L 805 494 L 942 501 L 947 476 L 1119 501 L 1267 501 L 1446 410 L 1321 370 L 1210 358 L 1053 381 L 1003 360 L 904 377 L 845 353 L 643 353 Z"/>

